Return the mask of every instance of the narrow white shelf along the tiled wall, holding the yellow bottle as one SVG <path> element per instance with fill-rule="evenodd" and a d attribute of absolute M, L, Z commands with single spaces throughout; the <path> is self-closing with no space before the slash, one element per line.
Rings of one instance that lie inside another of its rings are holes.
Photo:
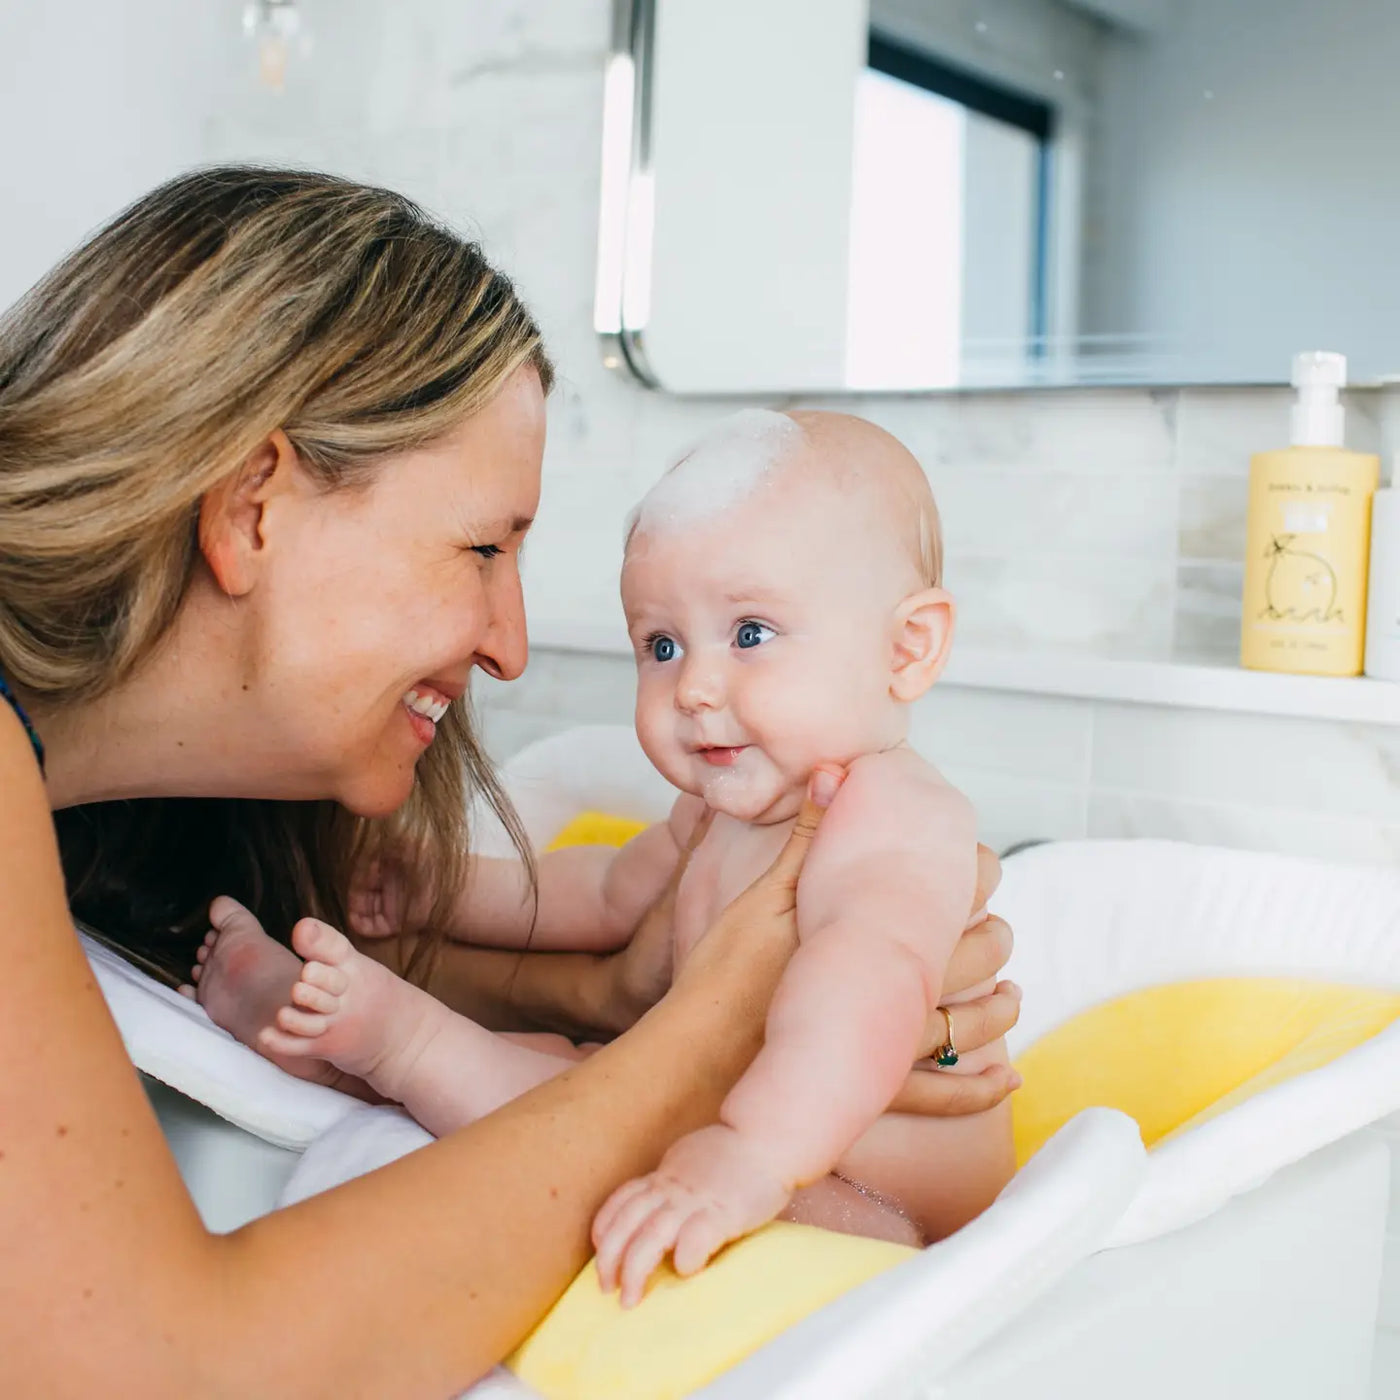
<path fill-rule="evenodd" d="M 531 641 L 545 651 L 631 654 L 620 627 L 545 623 L 531 629 Z M 941 683 L 1078 700 L 1400 725 L 1400 685 L 1364 678 L 1282 676 L 1222 662 L 1119 661 L 1068 651 L 953 647 Z"/>

